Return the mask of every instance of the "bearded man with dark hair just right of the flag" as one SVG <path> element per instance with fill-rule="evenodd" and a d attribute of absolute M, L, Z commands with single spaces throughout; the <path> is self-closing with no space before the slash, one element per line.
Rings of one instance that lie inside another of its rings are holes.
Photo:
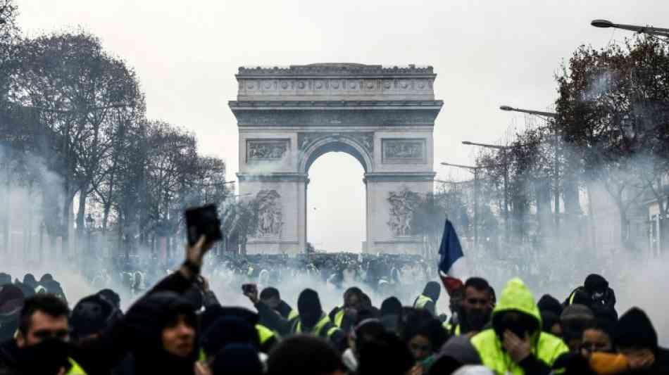
<path fill-rule="evenodd" d="M 488 281 L 470 277 L 465 282 L 465 293 L 458 311 L 458 324 L 452 327 L 454 336 L 474 336 L 484 329 L 492 314 L 492 293 Z"/>

